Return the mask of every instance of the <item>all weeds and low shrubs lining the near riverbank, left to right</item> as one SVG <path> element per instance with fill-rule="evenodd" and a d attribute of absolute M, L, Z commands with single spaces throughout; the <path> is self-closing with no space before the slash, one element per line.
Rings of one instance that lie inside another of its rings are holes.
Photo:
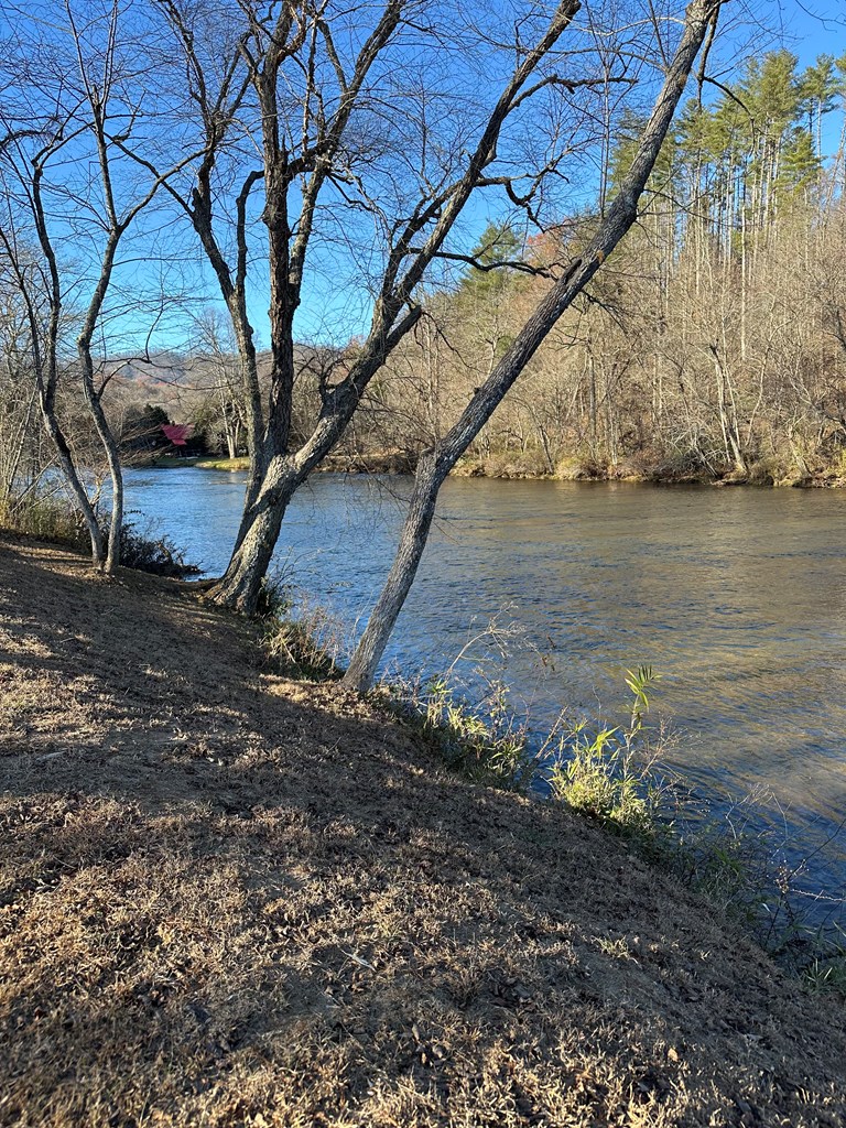
<path fill-rule="evenodd" d="M 78 514 L 55 497 L 33 494 L 10 505 L 0 514 L 2 528 L 76 550 L 86 547 Z M 122 538 L 126 567 L 176 579 L 199 574 L 168 537 L 127 522 Z M 285 676 L 307 681 L 343 677 L 350 632 L 319 603 L 300 600 L 294 606 L 284 583 L 265 581 L 257 622 L 262 649 Z M 477 685 L 487 688 L 477 688 L 473 702 L 456 682 L 456 669 L 478 643 L 490 637 L 504 658 L 512 634 L 513 627 L 494 619 L 472 633 L 442 675 L 382 681 L 371 700 L 411 725 L 466 778 L 562 800 L 631 840 L 652 864 L 716 899 L 793 973 L 820 989 L 846 994 L 846 932 L 837 907 L 823 925 L 809 908 L 799 907 L 792 888 L 796 874 L 777 863 L 766 832 L 756 828 L 754 802 L 746 803 L 739 826 L 725 816 L 712 818 L 707 801 L 664 763 L 662 730 L 655 740 L 645 725 L 660 675 L 651 667 L 626 671 L 627 725 L 574 721 L 564 713 L 532 742 L 528 720 L 517 720 L 501 680 L 477 668 Z"/>

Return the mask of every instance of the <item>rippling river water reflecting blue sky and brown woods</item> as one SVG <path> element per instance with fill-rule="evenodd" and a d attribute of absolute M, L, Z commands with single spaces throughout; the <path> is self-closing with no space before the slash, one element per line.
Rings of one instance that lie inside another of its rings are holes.
<path fill-rule="evenodd" d="M 151 519 L 214 574 L 244 475 L 126 475 Z M 407 478 L 315 475 L 275 557 L 346 628 L 390 564 Z M 615 717 L 623 671 L 662 673 L 670 758 L 705 790 L 764 787 L 811 885 L 846 892 L 846 492 L 450 478 L 388 664 L 439 672 L 497 617 L 519 627 L 504 670 L 485 640 L 462 668 L 504 673 L 543 730 L 565 706 Z M 490 637 L 487 643 L 490 643 Z"/>

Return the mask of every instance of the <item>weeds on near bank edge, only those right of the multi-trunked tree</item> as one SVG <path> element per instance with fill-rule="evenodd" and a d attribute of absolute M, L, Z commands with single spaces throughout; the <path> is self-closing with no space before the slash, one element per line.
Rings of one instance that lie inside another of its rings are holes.
<path fill-rule="evenodd" d="M 285 677 L 320 682 L 343 675 L 341 645 L 326 636 L 329 617 L 320 609 L 305 622 L 292 618 L 284 594 L 268 585 L 259 622 L 267 661 Z M 624 839 L 646 864 L 725 914 L 807 987 L 846 998 L 846 932 L 839 924 L 825 932 L 811 925 L 766 841 L 711 816 L 690 783 L 663 761 L 661 735 L 655 739 L 646 723 L 659 678 L 651 668 L 626 671 L 627 725 L 562 716 L 539 749 L 530 747 L 527 725 L 499 682 L 474 702 L 447 677 L 384 681 L 368 700 L 460 777 L 563 802 Z"/>

